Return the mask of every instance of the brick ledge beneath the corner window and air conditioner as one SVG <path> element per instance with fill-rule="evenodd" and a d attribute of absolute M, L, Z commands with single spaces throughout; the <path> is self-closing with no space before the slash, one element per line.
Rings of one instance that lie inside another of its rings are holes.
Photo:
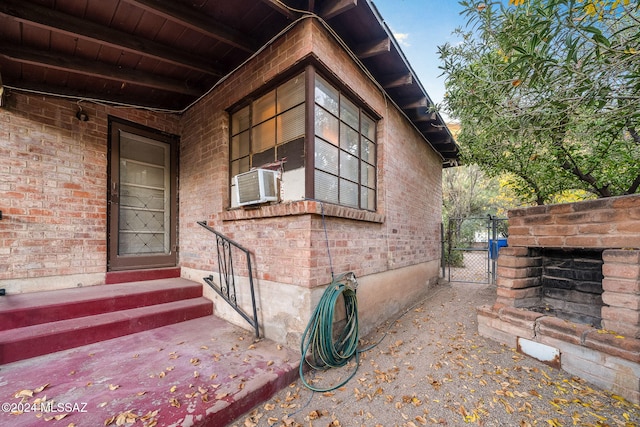
<path fill-rule="evenodd" d="M 220 219 L 222 219 L 222 221 L 241 221 L 246 219 L 273 218 L 290 215 L 322 215 L 323 208 L 325 216 L 378 224 L 384 222 L 384 215 L 375 212 L 347 208 L 345 206 L 338 206 L 331 203 L 321 203 L 314 200 L 300 200 L 273 205 L 262 205 L 256 208 L 234 208 L 223 212 L 220 215 Z"/>

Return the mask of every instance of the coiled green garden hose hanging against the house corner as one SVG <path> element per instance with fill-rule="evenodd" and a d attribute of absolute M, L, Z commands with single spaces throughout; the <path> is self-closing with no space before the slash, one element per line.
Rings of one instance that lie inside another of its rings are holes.
<path fill-rule="evenodd" d="M 353 284 L 351 286 L 350 284 Z M 349 272 L 339 275 L 325 289 L 320 302 L 316 306 L 309 323 L 302 334 L 300 352 L 300 379 L 310 390 L 327 392 L 346 384 L 357 372 L 359 364 L 358 340 L 358 300 L 356 299 L 357 282 L 355 274 Z M 344 297 L 346 324 L 342 332 L 334 340 L 334 312 L 338 298 Z M 307 355 L 311 357 L 307 357 Z M 342 383 L 330 388 L 311 386 L 304 378 L 305 363 L 316 370 L 327 370 L 346 365 L 352 357 L 356 357 L 356 369 Z"/>

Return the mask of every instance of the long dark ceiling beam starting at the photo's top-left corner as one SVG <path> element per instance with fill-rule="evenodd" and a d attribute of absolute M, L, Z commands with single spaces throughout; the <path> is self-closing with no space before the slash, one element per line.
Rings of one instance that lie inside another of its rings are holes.
<path fill-rule="evenodd" d="M 222 70 L 177 49 L 34 3 L 22 0 L 3 0 L 0 3 L 0 15 L 7 16 L 17 22 L 35 25 L 70 37 L 90 40 L 179 67 L 215 76 L 224 75 Z"/>

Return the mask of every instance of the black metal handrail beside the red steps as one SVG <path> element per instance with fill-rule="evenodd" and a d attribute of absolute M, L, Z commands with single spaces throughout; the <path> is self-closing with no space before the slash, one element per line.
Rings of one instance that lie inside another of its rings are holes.
<path fill-rule="evenodd" d="M 249 322 L 256 331 L 256 338 L 260 338 L 260 328 L 258 326 L 258 311 L 256 308 L 256 297 L 253 290 L 253 270 L 251 268 L 251 253 L 248 249 L 237 242 L 234 242 L 224 234 L 221 234 L 207 225 L 206 221 L 198 221 L 198 224 L 216 235 L 216 249 L 218 254 L 218 279 L 220 285 L 213 281 L 213 275 L 204 277 L 211 288 L 216 291 L 244 320 Z M 242 307 L 238 305 L 236 298 L 236 275 L 233 268 L 233 248 L 244 252 L 247 257 L 247 271 L 249 276 L 249 288 L 251 291 L 251 306 L 253 316 L 247 314 Z"/>

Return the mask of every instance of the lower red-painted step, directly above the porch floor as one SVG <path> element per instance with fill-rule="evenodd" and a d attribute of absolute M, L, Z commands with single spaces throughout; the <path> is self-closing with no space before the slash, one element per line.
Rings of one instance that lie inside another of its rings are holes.
<path fill-rule="evenodd" d="M 0 332 L 0 364 L 67 350 L 213 314 L 213 303 L 190 298 Z"/>

